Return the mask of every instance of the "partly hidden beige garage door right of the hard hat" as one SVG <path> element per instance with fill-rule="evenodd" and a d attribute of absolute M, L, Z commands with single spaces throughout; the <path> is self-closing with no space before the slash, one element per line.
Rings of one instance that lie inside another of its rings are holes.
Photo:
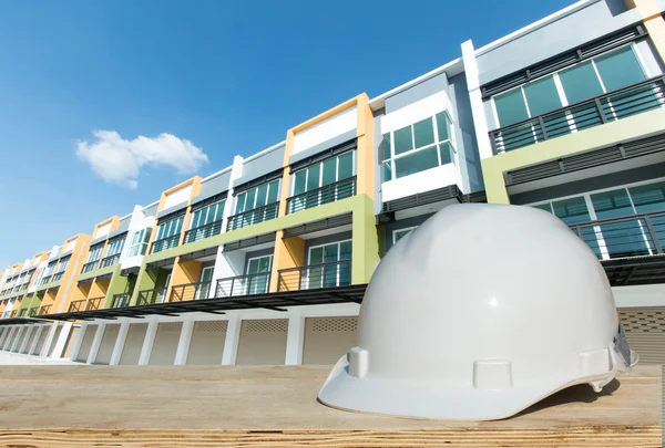
<path fill-rule="evenodd" d="M 618 314 L 640 364 L 665 364 L 665 306 L 623 308 Z"/>

